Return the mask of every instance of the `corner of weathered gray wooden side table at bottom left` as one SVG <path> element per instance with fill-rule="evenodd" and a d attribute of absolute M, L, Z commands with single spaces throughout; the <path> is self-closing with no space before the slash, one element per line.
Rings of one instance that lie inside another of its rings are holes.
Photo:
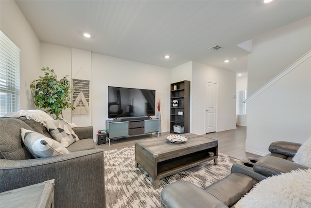
<path fill-rule="evenodd" d="M 54 179 L 0 193 L 2 208 L 54 208 Z"/>

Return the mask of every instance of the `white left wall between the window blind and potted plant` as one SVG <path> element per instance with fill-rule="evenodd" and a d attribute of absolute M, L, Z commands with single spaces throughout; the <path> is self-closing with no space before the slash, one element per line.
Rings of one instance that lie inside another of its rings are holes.
<path fill-rule="evenodd" d="M 0 29 L 21 49 L 19 108 L 35 109 L 30 84 L 41 69 L 40 41 L 13 0 L 0 0 Z"/>

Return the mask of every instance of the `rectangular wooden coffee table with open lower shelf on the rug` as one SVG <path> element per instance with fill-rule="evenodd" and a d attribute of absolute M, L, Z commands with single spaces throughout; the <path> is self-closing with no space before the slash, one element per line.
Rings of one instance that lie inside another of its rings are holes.
<path fill-rule="evenodd" d="M 218 141 L 192 133 L 184 143 L 172 143 L 165 136 L 135 143 L 136 168 L 141 166 L 152 178 L 154 189 L 159 179 L 209 160 L 217 165 Z M 213 152 L 213 156 L 210 153 Z"/>

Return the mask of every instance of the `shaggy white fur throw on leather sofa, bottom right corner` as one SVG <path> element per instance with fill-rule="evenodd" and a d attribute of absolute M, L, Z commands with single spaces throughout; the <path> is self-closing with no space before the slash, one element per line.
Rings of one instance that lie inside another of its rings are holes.
<path fill-rule="evenodd" d="M 235 208 L 310 208 L 311 169 L 293 170 L 260 181 Z"/>

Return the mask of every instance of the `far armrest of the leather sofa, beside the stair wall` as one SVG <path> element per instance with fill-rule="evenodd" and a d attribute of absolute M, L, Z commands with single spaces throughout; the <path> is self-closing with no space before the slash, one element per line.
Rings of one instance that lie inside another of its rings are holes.
<path fill-rule="evenodd" d="M 301 144 L 295 142 L 277 141 L 270 144 L 269 151 L 287 157 L 294 157 L 300 146 Z"/>

